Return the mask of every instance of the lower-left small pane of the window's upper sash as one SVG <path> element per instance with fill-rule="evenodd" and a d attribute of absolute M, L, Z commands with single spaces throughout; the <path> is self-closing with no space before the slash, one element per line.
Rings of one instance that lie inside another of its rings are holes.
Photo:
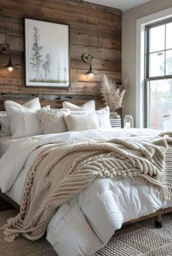
<path fill-rule="evenodd" d="M 164 76 L 164 52 L 149 55 L 149 77 Z"/>

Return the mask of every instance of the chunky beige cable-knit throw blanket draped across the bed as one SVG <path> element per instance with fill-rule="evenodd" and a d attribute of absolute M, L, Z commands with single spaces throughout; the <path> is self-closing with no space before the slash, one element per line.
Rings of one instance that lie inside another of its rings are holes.
<path fill-rule="evenodd" d="M 165 176 L 164 171 L 169 148 L 165 138 L 49 145 L 28 173 L 20 213 L 7 221 L 5 239 L 13 241 L 22 235 L 34 241 L 42 237 L 58 207 L 81 193 L 95 178 L 141 177 L 170 197 L 172 175 Z"/>

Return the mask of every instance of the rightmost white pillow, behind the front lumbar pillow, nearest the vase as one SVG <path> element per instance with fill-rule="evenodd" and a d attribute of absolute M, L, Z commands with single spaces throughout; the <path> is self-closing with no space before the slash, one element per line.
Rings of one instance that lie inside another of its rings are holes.
<path fill-rule="evenodd" d="M 86 111 L 71 111 L 71 115 L 84 115 L 87 114 Z M 111 123 L 109 120 L 109 106 L 104 107 L 100 110 L 95 110 L 95 112 L 91 112 L 92 114 L 96 114 L 98 116 L 99 126 L 101 129 L 111 129 Z"/>

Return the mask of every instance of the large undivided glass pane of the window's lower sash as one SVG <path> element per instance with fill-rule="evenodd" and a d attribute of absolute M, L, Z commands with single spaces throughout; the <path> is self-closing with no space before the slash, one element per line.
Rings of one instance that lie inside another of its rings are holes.
<path fill-rule="evenodd" d="M 172 130 L 172 79 L 150 82 L 150 128 Z"/>

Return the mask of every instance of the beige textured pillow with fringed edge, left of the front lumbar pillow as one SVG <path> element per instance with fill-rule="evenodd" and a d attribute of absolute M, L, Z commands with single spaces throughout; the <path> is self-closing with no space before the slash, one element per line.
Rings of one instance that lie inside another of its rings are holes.
<path fill-rule="evenodd" d="M 64 133 L 68 131 L 63 116 L 69 115 L 69 109 L 40 109 L 37 111 L 41 121 L 41 131 L 43 134 Z"/>

